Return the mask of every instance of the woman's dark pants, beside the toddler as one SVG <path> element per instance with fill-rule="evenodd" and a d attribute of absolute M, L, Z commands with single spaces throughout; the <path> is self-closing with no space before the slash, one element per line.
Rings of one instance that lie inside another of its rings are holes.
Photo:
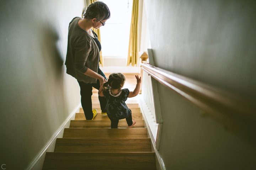
<path fill-rule="evenodd" d="M 105 74 L 100 70 L 100 68 L 98 68 L 98 74 L 105 77 Z M 92 87 L 94 87 L 95 89 L 100 89 L 100 81 L 97 80 L 97 83 L 84 83 L 83 81 L 78 81 L 78 83 L 80 86 L 81 104 L 85 113 L 85 118 L 86 120 L 91 120 L 93 118 L 91 100 Z M 106 113 L 106 98 L 98 96 L 98 99 L 100 101 L 101 112 Z"/>

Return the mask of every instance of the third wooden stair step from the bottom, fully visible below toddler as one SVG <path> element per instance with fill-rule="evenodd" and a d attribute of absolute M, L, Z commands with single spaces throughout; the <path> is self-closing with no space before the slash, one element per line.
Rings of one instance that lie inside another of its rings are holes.
<path fill-rule="evenodd" d="M 147 138 L 146 128 L 65 128 L 63 138 Z"/>

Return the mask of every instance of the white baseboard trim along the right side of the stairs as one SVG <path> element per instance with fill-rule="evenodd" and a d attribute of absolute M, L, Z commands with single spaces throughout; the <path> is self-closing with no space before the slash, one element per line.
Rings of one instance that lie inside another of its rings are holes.
<path fill-rule="evenodd" d="M 151 129 L 150 129 L 150 126 L 149 126 L 149 123 L 148 123 L 148 119 L 147 119 L 147 117 L 146 117 L 146 115 L 145 115 L 145 112 L 144 112 L 144 110 L 146 110 L 146 109 L 148 109 L 148 108 L 144 108 L 144 105 L 142 104 L 142 101 L 141 101 L 141 100 L 143 100 L 143 98 L 140 96 L 140 97 L 139 97 L 139 100 L 138 100 L 138 102 L 139 102 L 139 107 L 140 107 L 140 111 L 142 112 L 142 115 L 143 115 L 144 120 L 145 120 L 146 128 L 148 129 L 149 136 L 150 136 L 150 138 L 151 138 L 151 142 L 153 143 L 154 151 L 155 151 L 155 154 L 156 154 L 156 159 L 157 159 L 157 161 L 158 161 L 158 163 L 159 163 L 159 165 L 160 165 L 160 169 L 161 169 L 161 170 L 166 170 L 166 169 L 165 169 L 165 165 L 164 165 L 164 161 L 162 160 L 162 158 L 161 158 L 161 156 L 160 156 L 158 150 L 156 149 L 155 139 L 154 139 L 153 133 L 152 133 L 152 131 L 151 131 Z"/>

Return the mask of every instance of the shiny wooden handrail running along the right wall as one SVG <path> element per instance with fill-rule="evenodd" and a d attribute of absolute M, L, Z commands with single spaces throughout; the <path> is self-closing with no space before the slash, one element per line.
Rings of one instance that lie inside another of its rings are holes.
<path fill-rule="evenodd" d="M 256 143 L 256 101 L 248 100 L 167 70 L 142 63 L 142 69 L 161 84 L 176 91 L 202 109 L 203 115 Z"/>

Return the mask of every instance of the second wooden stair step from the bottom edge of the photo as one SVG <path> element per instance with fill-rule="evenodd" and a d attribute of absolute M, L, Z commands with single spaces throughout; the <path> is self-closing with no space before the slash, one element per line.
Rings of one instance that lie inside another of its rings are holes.
<path fill-rule="evenodd" d="M 151 152 L 150 138 L 57 138 L 54 152 Z"/>

